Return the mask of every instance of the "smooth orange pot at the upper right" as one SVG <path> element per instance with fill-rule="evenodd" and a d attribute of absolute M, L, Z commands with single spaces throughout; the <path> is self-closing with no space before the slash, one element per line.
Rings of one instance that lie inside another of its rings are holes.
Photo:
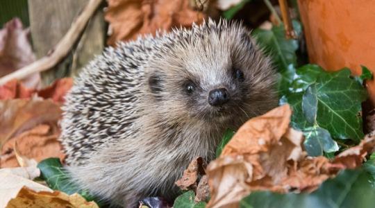
<path fill-rule="evenodd" d="M 299 0 L 310 62 L 328 71 L 360 65 L 375 75 L 375 0 Z M 375 104 L 375 83 L 367 83 Z"/>

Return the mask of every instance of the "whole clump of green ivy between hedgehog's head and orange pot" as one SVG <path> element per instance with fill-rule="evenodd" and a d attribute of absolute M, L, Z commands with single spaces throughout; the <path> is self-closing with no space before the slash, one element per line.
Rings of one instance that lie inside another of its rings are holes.
<path fill-rule="evenodd" d="M 293 21 L 297 35 L 301 25 Z M 291 125 L 302 130 L 309 155 L 335 153 L 338 139 L 358 142 L 363 138 L 361 103 L 367 98 L 364 79 L 372 77 L 363 67 L 363 74 L 351 78 L 349 69 L 328 73 L 317 65 L 306 64 L 297 69 L 297 40 L 285 39 L 283 25 L 270 31 L 253 31 L 258 44 L 272 57 L 278 69 L 278 94 L 280 104 L 293 108 Z"/>

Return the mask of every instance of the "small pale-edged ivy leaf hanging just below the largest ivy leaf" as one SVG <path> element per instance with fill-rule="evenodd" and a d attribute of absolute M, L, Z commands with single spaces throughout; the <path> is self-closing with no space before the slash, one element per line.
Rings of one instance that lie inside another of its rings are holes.
<path fill-rule="evenodd" d="M 310 156 L 319 156 L 323 153 L 334 153 L 339 150 L 338 144 L 334 141 L 327 130 L 318 126 L 305 128 L 303 130 L 306 152 Z"/>

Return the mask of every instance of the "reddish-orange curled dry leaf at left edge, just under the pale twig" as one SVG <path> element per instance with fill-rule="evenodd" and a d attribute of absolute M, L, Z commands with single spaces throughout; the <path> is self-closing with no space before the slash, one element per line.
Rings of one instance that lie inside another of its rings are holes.
<path fill-rule="evenodd" d="M 72 78 L 62 78 L 56 80 L 52 85 L 44 89 L 28 89 L 17 81 L 11 80 L 3 86 L 0 86 L 0 100 L 8 100 L 15 98 L 31 98 L 40 96 L 44 99 L 51 98 L 56 103 L 64 103 L 65 94 L 72 88 Z"/>

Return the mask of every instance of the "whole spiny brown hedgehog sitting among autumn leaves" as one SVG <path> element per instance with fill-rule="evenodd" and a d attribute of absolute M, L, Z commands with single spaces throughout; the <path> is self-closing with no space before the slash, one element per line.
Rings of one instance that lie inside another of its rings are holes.
<path fill-rule="evenodd" d="M 275 75 L 238 22 L 209 19 L 108 47 L 65 98 L 67 170 L 111 205 L 172 202 L 194 157 L 214 159 L 226 129 L 277 106 Z"/>

